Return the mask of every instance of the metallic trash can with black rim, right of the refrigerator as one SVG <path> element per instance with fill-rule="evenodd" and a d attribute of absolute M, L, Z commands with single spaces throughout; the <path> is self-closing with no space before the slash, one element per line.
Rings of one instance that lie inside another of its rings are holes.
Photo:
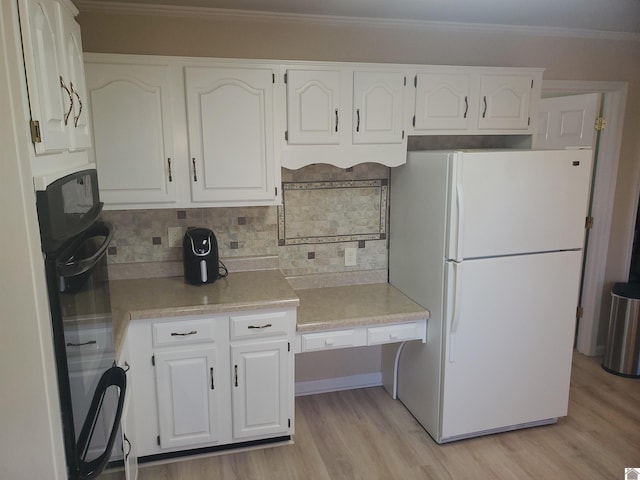
<path fill-rule="evenodd" d="M 640 283 L 616 283 L 611 289 L 602 368 L 623 377 L 640 378 Z"/>

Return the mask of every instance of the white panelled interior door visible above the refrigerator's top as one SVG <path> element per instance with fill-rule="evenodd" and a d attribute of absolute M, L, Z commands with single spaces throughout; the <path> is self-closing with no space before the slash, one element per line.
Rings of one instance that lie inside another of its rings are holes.
<path fill-rule="evenodd" d="M 543 98 L 533 148 L 594 148 L 599 105 L 598 93 Z"/>

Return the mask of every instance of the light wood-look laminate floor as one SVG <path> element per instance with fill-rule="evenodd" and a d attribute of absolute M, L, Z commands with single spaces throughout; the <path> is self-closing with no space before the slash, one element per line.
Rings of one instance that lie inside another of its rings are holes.
<path fill-rule="evenodd" d="M 574 355 L 569 416 L 437 445 L 382 388 L 299 397 L 293 445 L 142 465 L 139 480 L 623 479 L 640 466 L 640 380 Z"/>

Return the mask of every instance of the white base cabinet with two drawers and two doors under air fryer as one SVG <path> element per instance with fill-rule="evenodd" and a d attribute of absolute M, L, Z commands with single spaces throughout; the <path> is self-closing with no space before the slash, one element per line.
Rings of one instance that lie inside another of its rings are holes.
<path fill-rule="evenodd" d="M 296 310 L 133 320 L 138 455 L 293 434 Z"/>

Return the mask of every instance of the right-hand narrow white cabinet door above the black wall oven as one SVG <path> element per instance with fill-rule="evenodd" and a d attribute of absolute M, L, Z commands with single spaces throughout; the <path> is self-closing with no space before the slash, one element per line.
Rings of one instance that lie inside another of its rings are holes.
<path fill-rule="evenodd" d="M 66 122 L 69 150 L 86 150 L 91 147 L 91 132 L 80 25 L 62 5 L 56 4 L 56 10 L 60 26 L 60 56 L 72 98 L 71 115 Z"/>

